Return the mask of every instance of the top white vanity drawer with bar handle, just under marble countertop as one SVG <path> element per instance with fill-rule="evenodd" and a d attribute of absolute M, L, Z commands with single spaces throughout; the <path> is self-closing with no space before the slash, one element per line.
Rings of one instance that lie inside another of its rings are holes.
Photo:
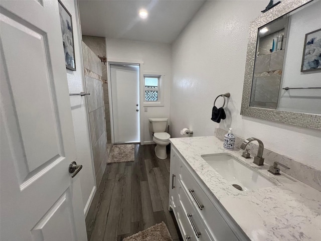
<path fill-rule="evenodd" d="M 237 241 L 238 238 L 206 196 L 200 185 L 195 181 L 185 164 L 181 165 L 180 169 L 182 187 L 187 193 L 190 203 L 192 203 L 214 239 L 216 241 Z"/>

